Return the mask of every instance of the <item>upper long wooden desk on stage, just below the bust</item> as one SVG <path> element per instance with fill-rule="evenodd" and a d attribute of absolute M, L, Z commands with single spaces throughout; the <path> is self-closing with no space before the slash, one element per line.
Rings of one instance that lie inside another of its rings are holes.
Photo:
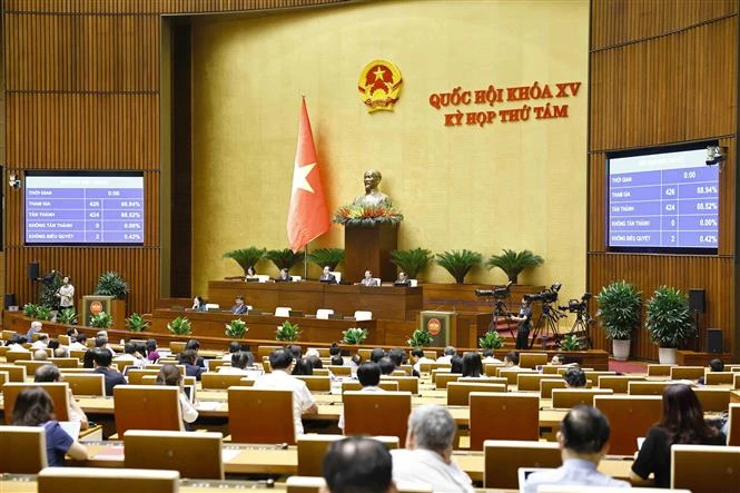
<path fill-rule="evenodd" d="M 332 308 L 343 315 L 352 315 L 357 309 L 365 309 L 373 312 L 374 318 L 414 321 L 416 312 L 422 309 L 421 286 L 366 287 L 312 280 L 299 283 L 208 282 L 210 303 L 217 303 L 228 309 L 234 305 L 237 295 L 243 295 L 247 305 L 269 312 L 274 312 L 278 306 L 289 306 L 310 314 L 315 314 L 318 308 Z"/>

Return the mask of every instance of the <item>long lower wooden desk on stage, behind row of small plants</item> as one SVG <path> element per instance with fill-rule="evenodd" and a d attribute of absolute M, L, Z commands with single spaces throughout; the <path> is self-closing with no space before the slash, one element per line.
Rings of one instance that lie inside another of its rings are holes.
<path fill-rule="evenodd" d="M 225 325 L 238 318 L 246 322 L 249 331 L 246 337 L 250 339 L 275 339 L 275 329 L 283 322 L 289 321 L 298 324 L 302 341 L 333 342 L 342 338 L 342 332 L 349 327 L 367 328 L 367 344 L 383 344 L 385 334 L 378 329 L 376 321 L 324 321 L 314 317 L 275 317 L 273 315 L 234 315 L 229 312 L 178 312 L 171 309 L 156 309 L 151 316 L 150 331 L 158 334 L 169 334 L 167 324 L 174 318 L 186 316 L 193 326 L 194 337 L 226 337 Z"/>

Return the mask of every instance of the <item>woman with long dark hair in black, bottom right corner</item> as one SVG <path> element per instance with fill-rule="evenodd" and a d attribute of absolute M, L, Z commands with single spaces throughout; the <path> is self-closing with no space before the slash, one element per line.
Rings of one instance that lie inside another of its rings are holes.
<path fill-rule="evenodd" d="M 632 464 L 631 475 L 647 480 L 655 475 L 655 486 L 670 487 L 671 445 L 724 445 L 727 438 L 704 421 L 704 412 L 690 386 L 673 384 L 663 391 L 663 417 L 648 430 L 648 436 Z"/>

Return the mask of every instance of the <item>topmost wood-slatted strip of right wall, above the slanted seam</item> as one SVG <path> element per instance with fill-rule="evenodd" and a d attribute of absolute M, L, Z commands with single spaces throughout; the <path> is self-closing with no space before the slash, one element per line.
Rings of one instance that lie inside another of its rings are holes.
<path fill-rule="evenodd" d="M 734 13 L 737 0 L 594 0 L 591 49 L 660 36 Z"/>

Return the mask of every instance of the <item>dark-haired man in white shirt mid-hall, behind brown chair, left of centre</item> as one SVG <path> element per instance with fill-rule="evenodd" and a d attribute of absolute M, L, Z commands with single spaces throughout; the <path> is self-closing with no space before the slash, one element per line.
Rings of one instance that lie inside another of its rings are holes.
<path fill-rule="evenodd" d="M 269 365 L 273 373 L 265 374 L 257 378 L 254 388 L 276 388 L 282 391 L 293 391 L 293 421 L 295 424 L 296 436 L 303 435 L 303 414 L 318 413 L 318 406 L 310 395 L 306 383 L 290 375 L 293 372 L 293 355 L 285 349 L 276 349 L 269 355 Z"/>

